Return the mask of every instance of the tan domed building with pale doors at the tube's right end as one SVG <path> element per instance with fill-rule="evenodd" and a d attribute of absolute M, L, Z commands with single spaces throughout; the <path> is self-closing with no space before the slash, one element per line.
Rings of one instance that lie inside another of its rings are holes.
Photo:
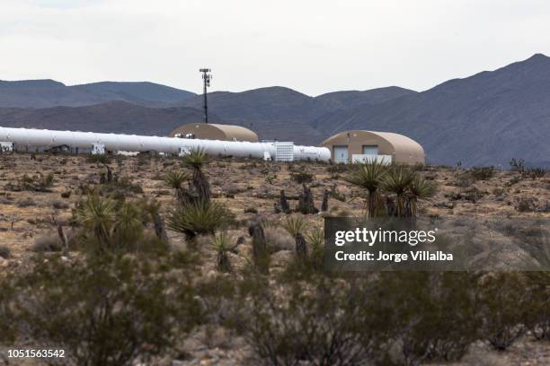
<path fill-rule="evenodd" d="M 426 155 L 421 144 L 391 132 L 352 130 L 324 140 L 321 146 L 331 150 L 334 162 L 355 162 L 376 159 L 387 163 L 423 164 Z"/>

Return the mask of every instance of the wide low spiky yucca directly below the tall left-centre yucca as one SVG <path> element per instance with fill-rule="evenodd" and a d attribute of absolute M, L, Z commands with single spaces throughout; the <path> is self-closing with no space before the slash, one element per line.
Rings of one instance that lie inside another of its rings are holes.
<path fill-rule="evenodd" d="M 182 232 L 192 242 L 197 235 L 216 233 L 231 217 L 225 205 L 200 200 L 173 209 L 168 216 L 168 226 Z"/>

